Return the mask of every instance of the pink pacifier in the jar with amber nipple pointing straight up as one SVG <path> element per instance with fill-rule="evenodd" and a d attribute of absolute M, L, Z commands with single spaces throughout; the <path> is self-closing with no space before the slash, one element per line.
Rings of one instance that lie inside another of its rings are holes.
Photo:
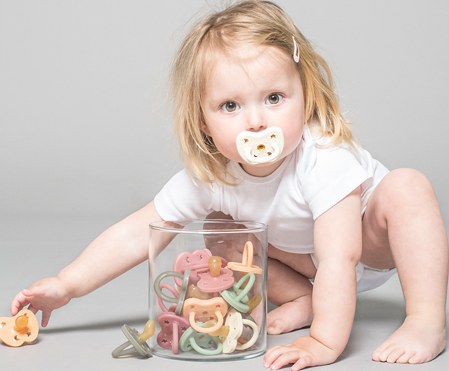
<path fill-rule="evenodd" d="M 226 290 L 234 284 L 234 275 L 228 268 L 222 268 L 222 258 L 211 256 L 208 262 L 209 272 L 198 273 L 198 289 L 207 293 Z"/>

